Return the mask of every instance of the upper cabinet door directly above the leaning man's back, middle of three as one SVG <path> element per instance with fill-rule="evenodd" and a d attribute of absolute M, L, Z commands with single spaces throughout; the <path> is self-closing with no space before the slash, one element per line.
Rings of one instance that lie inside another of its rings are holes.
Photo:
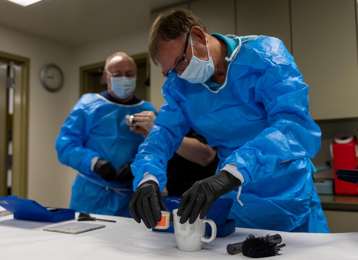
<path fill-rule="evenodd" d="M 273 36 L 291 51 L 289 0 L 237 1 L 236 21 L 238 36 Z"/>

